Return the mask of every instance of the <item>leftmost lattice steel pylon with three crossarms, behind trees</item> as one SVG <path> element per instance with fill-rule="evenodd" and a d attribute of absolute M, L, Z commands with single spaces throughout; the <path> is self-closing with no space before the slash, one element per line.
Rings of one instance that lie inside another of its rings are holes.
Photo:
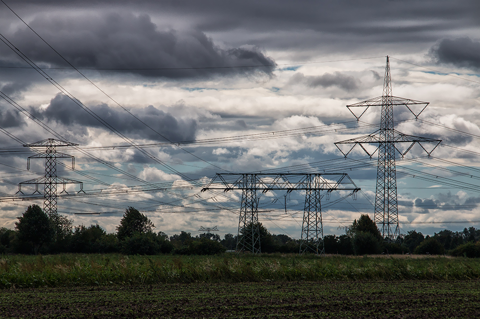
<path fill-rule="evenodd" d="M 45 158 L 45 176 L 30 179 L 19 184 L 19 192 L 22 192 L 22 185 L 33 184 L 35 185 L 34 193 L 38 191 L 38 185 L 45 185 L 44 188 L 44 212 L 47 213 L 48 217 L 52 218 L 57 215 L 57 185 L 63 184 L 63 192 L 65 190 L 66 184 L 80 184 L 80 191 L 83 189 L 83 183 L 75 181 L 73 179 L 58 177 L 57 176 L 57 158 L 72 158 L 72 170 L 74 169 L 74 157 L 72 155 L 64 154 L 57 152 L 57 147 L 67 147 L 67 146 L 76 146 L 78 144 L 73 144 L 70 142 L 60 141 L 56 139 L 46 139 L 32 144 L 26 144 L 24 147 L 29 148 L 42 148 L 45 151 L 41 151 L 38 154 L 28 157 L 27 160 L 27 170 L 30 169 L 30 159 L 31 158 Z"/>

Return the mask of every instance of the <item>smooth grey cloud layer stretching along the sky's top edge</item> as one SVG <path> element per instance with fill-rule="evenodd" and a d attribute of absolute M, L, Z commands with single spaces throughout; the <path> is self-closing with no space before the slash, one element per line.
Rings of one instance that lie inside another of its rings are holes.
<path fill-rule="evenodd" d="M 360 49 L 383 51 L 384 44 L 411 53 L 416 50 L 415 44 L 431 46 L 438 40 L 438 34 L 461 34 L 465 30 L 472 33 L 480 26 L 478 0 L 19 0 L 12 1 L 11 6 L 21 16 L 30 17 L 41 12 L 55 12 L 57 16 L 66 11 L 144 12 L 159 25 L 215 34 L 216 40 L 233 46 L 295 48 L 292 53 L 298 54 L 302 54 L 299 49 L 305 48 L 322 52 L 355 49 L 359 54 Z M 3 16 L 9 17 L 6 13 Z M 55 26 L 61 29 L 65 25 Z M 61 33 L 58 29 L 54 29 L 55 33 Z M 145 36 L 150 34 L 151 31 L 146 32 Z"/>

